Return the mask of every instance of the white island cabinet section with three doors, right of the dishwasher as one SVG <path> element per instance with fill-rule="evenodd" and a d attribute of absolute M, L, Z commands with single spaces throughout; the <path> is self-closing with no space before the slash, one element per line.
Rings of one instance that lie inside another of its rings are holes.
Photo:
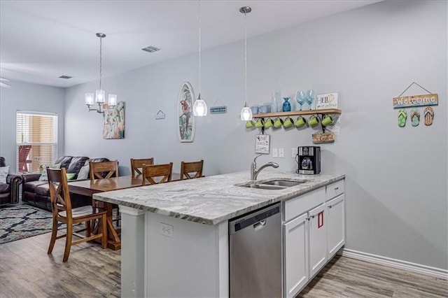
<path fill-rule="evenodd" d="M 345 243 L 344 180 L 283 201 L 283 297 L 295 297 Z"/>

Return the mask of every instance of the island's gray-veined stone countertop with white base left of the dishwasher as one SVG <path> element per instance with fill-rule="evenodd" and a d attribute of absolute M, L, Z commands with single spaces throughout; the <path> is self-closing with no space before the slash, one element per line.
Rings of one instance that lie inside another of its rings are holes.
<path fill-rule="evenodd" d="M 281 190 L 238 186 L 249 177 L 244 171 L 94 194 L 94 199 L 120 205 L 122 297 L 228 297 L 228 220 L 344 175 L 271 170 L 258 180 L 305 182 Z"/>

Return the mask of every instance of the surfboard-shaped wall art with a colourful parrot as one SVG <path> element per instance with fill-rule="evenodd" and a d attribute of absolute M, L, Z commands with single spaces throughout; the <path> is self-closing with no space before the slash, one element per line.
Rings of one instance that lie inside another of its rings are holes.
<path fill-rule="evenodd" d="M 182 84 L 179 91 L 179 98 L 177 104 L 177 123 L 179 141 L 193 142 L 195 138 L 195 117 L 193 116 L 193 102 L 195 101 L 195 94 L 190 83 Z"/>

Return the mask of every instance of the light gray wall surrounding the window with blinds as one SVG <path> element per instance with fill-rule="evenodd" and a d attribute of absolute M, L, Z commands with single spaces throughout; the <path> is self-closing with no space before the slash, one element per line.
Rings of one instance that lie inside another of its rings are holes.
<path fill-rule="evenodd" d="M 15 115 L 17 111 L 57 113 L 58 155 L 64 153 L 65 90 L 18 81 L 11 88 L 0 88 L 0 156 L 5 157 L 10 172 L 15 172 Z"/>

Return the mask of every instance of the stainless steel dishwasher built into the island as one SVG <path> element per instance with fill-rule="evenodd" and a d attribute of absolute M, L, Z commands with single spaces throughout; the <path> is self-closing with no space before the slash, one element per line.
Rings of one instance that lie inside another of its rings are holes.
<path fill-rule="evenodd" d="M 229 221 L 230 297 L 281 297 L 280 203 Z"/>

